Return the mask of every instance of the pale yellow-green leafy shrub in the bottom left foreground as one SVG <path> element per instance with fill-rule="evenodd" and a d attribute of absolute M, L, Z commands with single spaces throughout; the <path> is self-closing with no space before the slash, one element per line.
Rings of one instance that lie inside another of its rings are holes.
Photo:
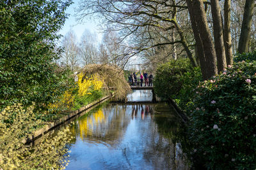
<path fill-rule="evenodd" d="M 33 110 L 33 107 L 24 109 L 15 104 L 1 111 L 0 169 L 63 169 L 67 166 L 67 162 L 63 162 L 68 157 L 66 144 L 73 139 L 68 128 L 51 138 L 49 134 L 43 136 L 33 148 L 22 143 L 40 124 Z"/>

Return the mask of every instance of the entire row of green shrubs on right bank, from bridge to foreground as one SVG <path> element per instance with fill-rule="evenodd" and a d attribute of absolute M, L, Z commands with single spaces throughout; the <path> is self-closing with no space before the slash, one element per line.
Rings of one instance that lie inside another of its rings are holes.
<path fill-rule="evenodd" d="M 237 55 L 234 66 L 207 81 L 185 60 L 157 69 L 157 95 L 175 99 L 191 118 L 184 150 L 195 168 L 256 168 L 255 54 Z"/>

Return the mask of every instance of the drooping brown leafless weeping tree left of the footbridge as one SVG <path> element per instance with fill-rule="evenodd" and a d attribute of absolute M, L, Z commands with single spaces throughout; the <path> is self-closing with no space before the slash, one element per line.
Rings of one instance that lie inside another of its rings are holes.
<path fill-rule="evenodd" d="M 115 90 L 115 96 L 118 97 L 118 99 L 123 99 L 127 93 L 131 91 L 131 87 L 127 83 L 127 80 L 125 80 L 124 71 L 117 66 L 89 64 L 85 66 L 80 73 L 84 74 L 84 78 L 96 74 L 104 83 L 104 89 L 108 92 Z"/>

